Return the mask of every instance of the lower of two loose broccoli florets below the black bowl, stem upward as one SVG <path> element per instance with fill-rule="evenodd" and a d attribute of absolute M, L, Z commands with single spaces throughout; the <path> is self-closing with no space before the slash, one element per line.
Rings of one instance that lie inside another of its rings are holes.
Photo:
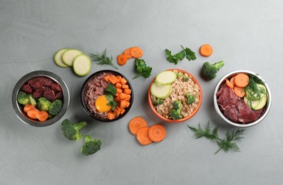
<path fill-rule="evenodd" d="M 101 149 L 101 140 L 100 139 L 91 139 L 89 134 L 86 135 L 86 142 L 81 147 L 81 154 L 91 155 L 98 152 Z"/>

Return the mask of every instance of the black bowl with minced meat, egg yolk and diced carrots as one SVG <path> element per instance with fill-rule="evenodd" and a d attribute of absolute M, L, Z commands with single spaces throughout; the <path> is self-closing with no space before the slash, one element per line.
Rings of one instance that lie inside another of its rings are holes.
<path fill-rule="evenodd" d="M 121 73 L 100 70 L 83 83 L 81 102 L 86 113 L 101 122 L 124 117 L 133 104 L 133 88 Z"/>

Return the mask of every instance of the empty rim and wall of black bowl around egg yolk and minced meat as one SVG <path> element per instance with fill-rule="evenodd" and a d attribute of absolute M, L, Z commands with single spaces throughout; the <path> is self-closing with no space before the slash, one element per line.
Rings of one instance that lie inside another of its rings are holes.
<path fill-rule="evenodd" d="M 101 73 L 112 73 L 113 75 L 120 75 L 122 78 L 125 78 L 125 80 L 127 80 L 128 85 L 129 85 L 129 88 L 130 88 L 130 90 L 132 91 L 131 94 L 130 94 L 130 101 L 129 101 L 129 102 L 130 102 L 130 105 L 129 105 L 129 107 L 127 107 L 127 108 L 125 109 L 125 112 L 123 113 L 123 115 L 119 115 L 118 117 L 115 117 L 115 119 L 113 119 L 113 120 L 102 119 L 101 117 L 98 117 L 98 116 L 96 116 L 96 115 L 93 115 L 93 114 L 91 113 L 91 111 L 88 110 L 88 107 L 86 106 L 86 103 L 85 103 L 85 101 L 84 101 L 84 94 L 85 94 L 85 90 L 86 90 L 86 85 L 88 84 L 88 82 L 89 82 L 92 78 L 96 77 L 97 75 L 100 75 Z M 100 121 L 100 122 L 115 122 L 115 121 L 117 121 L 117 120 L 120 120 L 122 117 L 124 117 L 124 116 L 129 112 L 130 107 L 132 107 L 132 105 L 133 105 L 133 87 L 132 87 L 132 85 L 130 85 L 130 81 L 125 77 L 125 75 L 123 75 L 123 74 L 121 74 L 121 73 L 118 73 L 118 72 L 115 71 L 115 70 L 99 70 L 99 71 L 97 71 L 96 73 L 93 73 L 92 75 L 90 75 L 90 76 L 86 79 L 86 81 L 83 83 L 83 87 L 81 88 L 81 103 L 82 103 L 82 105 L 83 105 L 83 110 L 85 110 L 86 114 L 89 115 L 90 117 L 92 117 L 93 119 L 98 120 L 98 121 Z"/>

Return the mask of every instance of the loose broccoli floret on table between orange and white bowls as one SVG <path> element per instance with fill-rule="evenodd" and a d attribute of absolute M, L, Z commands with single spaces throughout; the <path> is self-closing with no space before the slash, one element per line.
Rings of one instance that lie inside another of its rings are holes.
<path fill-rule="evenodd" d="M 218 70 L 224 65 L 223 61 L 220 61 L 215 64 L 210 64 L 209 62 L 205 62 L 202 65 L 202 76 L 207 80 L 212 80 L 216 78 Z"/>

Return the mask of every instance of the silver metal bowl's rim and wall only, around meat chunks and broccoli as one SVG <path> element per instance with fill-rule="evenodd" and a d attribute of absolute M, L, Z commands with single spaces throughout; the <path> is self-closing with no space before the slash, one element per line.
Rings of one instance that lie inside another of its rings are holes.
<path fill-rule="evenodd" d="M 63 101 L 62 101 L 63 106 L 62 106 L 60 112 L 55 117 L 48 119 L 44 122 L 31 120 L 29 117 L 26 116 L 26 113 L 23 111 L 23 107 L 21 105 L 19 105 L 19 103 L 17 102 L 17 95 L 21 91 L 21 88 L 24 85 L 24 83 L 26 83 L 27 80 L 30 80 L 31 78 L 36 78 L 36 77 L 51 78 L 56 83 L 61 85 L 62 92 L 63 92 Z M 46 71 L 46 70 L 36 70 L 34 72 L 31 72 L 31 73 L 24 75 L 18 81 L 18 83 L 16 83 L 14 90 L 13 90 L 13 93 L 12 93 L 12 105 L 13 105 L 14 111 L 16 112 L 17 117 L 19 117 L 19 119 L 22 122 L 24 122 L 26 125 L 31 125 L 31 126 L 34 126 L 34 127 L 46 127 L 46 126 L 49 126 L 49 125 L 53 125 L 55 122 L 60 120 L 61 117 L 63 117 L 63 115 L 66 113 L 66 111 L 68 109 L 69 102 L 70 102 L 70 95 L 69 95 L 69 91 L 68 91 L 66 83 L 64 83 L 64 81 L 58 75 L 51 73 L 49 71 Z"/>

